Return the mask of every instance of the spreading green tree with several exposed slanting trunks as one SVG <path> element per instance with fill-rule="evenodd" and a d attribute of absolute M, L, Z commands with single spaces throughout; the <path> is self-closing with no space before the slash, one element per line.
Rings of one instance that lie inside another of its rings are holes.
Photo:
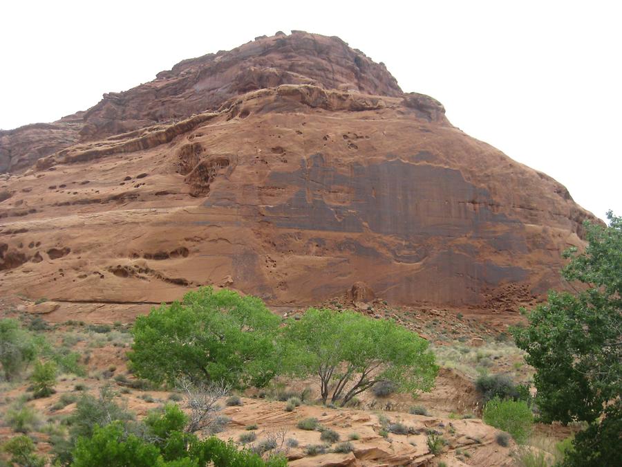
<path fill-rule="evenodd" d="M 283 331 L 283 365 L 317 375 L 323 403 L 345 405 L 381 381 L 401 392 L 428 391 L 438 367 L 428 342 L 393 320 L 352 311 L 309 309 Z"/>

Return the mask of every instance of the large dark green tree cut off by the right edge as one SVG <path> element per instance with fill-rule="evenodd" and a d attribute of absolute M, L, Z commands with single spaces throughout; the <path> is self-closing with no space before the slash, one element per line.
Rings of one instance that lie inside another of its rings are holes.
<path fill-rule="evenodd" d="M 562 275 L 581 283 L 576 292 L 550 292 L 547 303 L 523 310 L 527 327 L 513 329 L 536 369 L 541 419 L 590 423 L 575 438 L 576 455 L 567 461 L 573 466 L 607 465 L 621 443 L 597 436 L 619 427 L 622 412 L 622 219 L 612 212 L 607 218 L 608 227 L 584 224 L 583 254 L 565 253 L 571 261 Z"/>

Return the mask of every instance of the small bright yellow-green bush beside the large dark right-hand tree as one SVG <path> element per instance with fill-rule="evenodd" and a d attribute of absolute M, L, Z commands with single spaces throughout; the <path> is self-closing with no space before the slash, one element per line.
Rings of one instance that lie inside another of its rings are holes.
<path fill-rule="evenodd" d="M 502 401 L 498 397 L 484 406 L 482 418 L 487 424 L 511 434 L 517 443 L 527 441 L 534 424 L 534 414 L 525 401 Z"/>

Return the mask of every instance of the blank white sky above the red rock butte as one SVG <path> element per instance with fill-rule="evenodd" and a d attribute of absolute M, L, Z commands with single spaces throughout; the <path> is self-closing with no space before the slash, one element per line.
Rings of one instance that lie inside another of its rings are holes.
<path fill-rule="evenodd" d="M 0 128 L 49 122 L 182 59 L 337 35 L 453 125 L 622 214 L 618 1 L 26 1 L 0 8 Z"/>

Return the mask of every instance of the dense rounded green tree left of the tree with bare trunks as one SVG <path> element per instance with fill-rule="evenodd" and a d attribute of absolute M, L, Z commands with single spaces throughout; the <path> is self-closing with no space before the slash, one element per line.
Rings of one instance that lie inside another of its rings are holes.
<path fill-rule="evenodd" d="M 138 376 L 156 383 L 174 385 L 184 375 L 196 382 L 263 386 L 276 374 L 280 321 L 256 297 L 206 287 L 139 316 L 128 356 Z"/>

